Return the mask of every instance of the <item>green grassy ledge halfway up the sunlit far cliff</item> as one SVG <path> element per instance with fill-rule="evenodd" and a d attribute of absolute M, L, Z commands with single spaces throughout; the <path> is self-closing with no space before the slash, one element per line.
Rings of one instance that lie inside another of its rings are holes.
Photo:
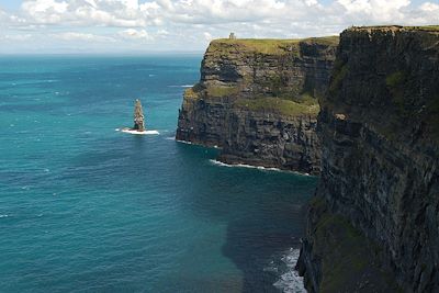
<path fill-rule="evenodd" d="M 317 115 L 319 111 L 318 104 L 307 105 L 279 98 L 241 99 L 237 100 L 234 105 L 255 112 L 281 114 L 284 116 Z"/>

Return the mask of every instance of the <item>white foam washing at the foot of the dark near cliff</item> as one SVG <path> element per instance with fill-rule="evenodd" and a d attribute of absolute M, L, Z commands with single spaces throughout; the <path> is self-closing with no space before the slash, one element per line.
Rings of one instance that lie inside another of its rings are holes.
<path fill-rule="evenodd" d="M 299 256 L 300 250 L 291 248 L 290 251 L 282 257 L 282 261 L 288 270 L 273 285 L 284 293 L 306 293 L 306 289 L 303 284 L 303 277 L 300 277 L 299 272 L 294 269 Z"/>

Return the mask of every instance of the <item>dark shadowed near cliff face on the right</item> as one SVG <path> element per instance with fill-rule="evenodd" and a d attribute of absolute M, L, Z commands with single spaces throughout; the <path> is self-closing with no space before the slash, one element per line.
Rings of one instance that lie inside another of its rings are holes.
<path fill-rule="evenodd" d="M 345 31 L 320 108 L 309 291 L 438 292 L 439 27 Z"/>

